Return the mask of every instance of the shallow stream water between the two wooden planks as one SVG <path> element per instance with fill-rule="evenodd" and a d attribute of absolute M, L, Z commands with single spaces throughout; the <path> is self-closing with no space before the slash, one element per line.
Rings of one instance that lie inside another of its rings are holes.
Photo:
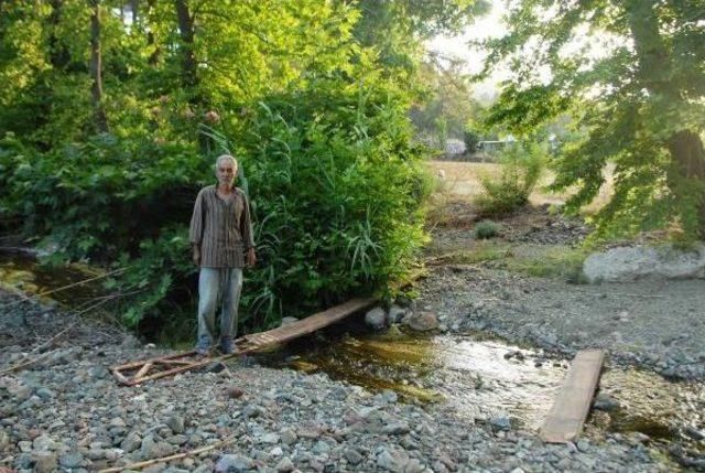
<path fill-rule="evenodd" d="M 477 334 L 368 334 L 347 326 L 344 335 L 299 341 L 263 363 L 391 389 L 406 401 L 444 402 L 469 421 L 505 417 L 512 427 L 529 429 L 536 429 L 551 408 L 567 366 Z"/>

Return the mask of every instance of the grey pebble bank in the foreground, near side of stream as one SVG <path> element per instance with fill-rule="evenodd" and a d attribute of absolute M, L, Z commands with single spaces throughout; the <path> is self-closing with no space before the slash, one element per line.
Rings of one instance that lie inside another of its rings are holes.
<path fill-rule="evenodd" d="M 1 302 L 13 300 L 6 294 Z M 29 303 L 12 309 L 21 311 L 39 338 L 62 325 L 58 312 L 47 318 L 43 308 Z M 15 319 L 6 312 L 2 330 Z M 54 329 L 48 320 L 56 321 Z M 218 445 L 144 470 L 519 473 L 676 467 L 642 434 L 606 433 L 599 441 L 546 445 L 532 431 L 501 419 L 480 422 L 444 402 L 402 402 L 393 391 L 368 390 L 321 373 L 234 363 L 219 373 L 121 387 L 109 366 L 161 352 L 129 335 L 93 338 L 91 332 L 80 333 L 55 341 L 33 367 L 1 375 L 0 466 L 94 471 Z M 3 367 L 20 361 L 32 347 L 29 342 L 3 345 Z"/>

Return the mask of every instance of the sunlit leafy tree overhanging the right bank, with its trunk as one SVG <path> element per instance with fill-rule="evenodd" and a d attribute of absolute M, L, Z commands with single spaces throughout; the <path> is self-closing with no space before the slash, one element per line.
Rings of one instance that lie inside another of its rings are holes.
<path fill-rule="evenodd" d="M 488 115 L 516 135 L 571 112 L 585 138 L 554 161 L 554 190 L 589 203 L 615 164 L 597 236 L 676 227 L 705 237 L 705 1 L 519 0 L 485 42 L 512 78 Z M 544 74 L 540 74 L 543 71 Z"/>

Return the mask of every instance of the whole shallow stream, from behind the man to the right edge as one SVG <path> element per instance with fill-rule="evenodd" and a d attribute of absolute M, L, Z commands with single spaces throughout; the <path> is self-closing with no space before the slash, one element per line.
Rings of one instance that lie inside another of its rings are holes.
<path fill-rule="evenodd" d="M 0 255 L 0 287 L 6 289 L 36 293 L 87 275 L 79 268 L 45 269 L 25 255 Z M 52 295 L 72 309 L 100 292 L 99 284 L 82 284 Z M 408 402 L 444 402 L 471 422 L 532 431 L 549 412 L 568 367 L 566 359 L 482 333 L 430 335 L 397 326 L 371 333 L 361 316 L 257 357 L 265 366 L 324 372 L 372 390 L 392 390 Z M 705 454 L 705 441 L 683 434 L 683 426 L 705 420 L 697 408 L 705 405 L 702 383 L 669 381 L 639 369 L 606 369 L 597 404 L 585 428 L 589 437 L 638 432 L 642 441 L 664 451 L 676 447 Z"/>

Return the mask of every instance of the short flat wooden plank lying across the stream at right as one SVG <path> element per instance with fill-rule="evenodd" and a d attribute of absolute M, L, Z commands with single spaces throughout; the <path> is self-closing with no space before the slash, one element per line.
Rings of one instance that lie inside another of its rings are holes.
<path fill-rule="evenodd" d="M 593 402 L 604 359 L 603 350 L 581 350 L 575 355 L 565 384 L 539 430 L 539 437 L 544 442 L 567 443 L 577 440 Z"/>

